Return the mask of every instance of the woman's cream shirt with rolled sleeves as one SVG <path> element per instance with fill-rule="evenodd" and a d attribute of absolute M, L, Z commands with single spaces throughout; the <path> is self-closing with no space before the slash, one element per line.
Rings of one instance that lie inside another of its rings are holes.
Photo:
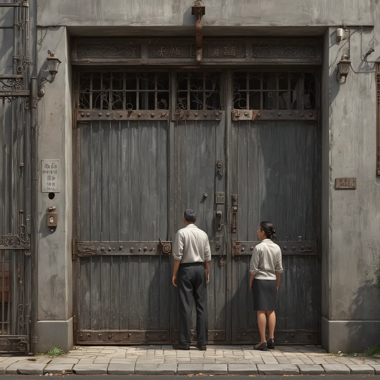
<path fill-rule="evenodd" d="M 276 273 L 282 273 L 282 256 L 280 247 L 271 241 L 264 239 L 256 245 L 249 266 L 255 279 L 275 280 Z"/>

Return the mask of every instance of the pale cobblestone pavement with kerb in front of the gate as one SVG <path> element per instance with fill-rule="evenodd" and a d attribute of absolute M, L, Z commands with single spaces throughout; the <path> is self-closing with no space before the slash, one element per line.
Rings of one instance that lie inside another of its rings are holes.
<path fill-rule="evenodd" d="M 189 351 L 171 346 L 74 347 L 56 358 L 0 357 L 0 374 L 380 374 L 380 358 L 339 356 L 317 346 L 207 346 Z"/>

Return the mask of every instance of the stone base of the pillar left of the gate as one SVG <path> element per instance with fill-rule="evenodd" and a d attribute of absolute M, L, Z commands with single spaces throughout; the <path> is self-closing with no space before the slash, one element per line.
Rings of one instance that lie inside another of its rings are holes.
<path fill-rule="evenodd" d="M 67 321 L 37 322 L 37 351 L 60 345 L 67 352 L 73 347 L 73 318 Z"/>

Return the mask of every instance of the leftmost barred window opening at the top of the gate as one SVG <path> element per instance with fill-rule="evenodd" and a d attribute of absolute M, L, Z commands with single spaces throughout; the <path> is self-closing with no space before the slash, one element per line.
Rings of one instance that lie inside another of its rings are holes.
<path fill-rule="evenodd" d="M 81 72 L 78 108 L 86 110 L 169 109 L 168 72 Z"/>

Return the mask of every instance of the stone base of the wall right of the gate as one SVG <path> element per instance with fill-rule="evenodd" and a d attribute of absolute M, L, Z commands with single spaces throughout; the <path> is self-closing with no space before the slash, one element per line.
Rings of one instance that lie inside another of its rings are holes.
<path fill-rule="evenodd" d="M 361 353 L 380 343 L 380 321 L 331 321 L 322 317 L 322 347 L 329 353 Z"/>

